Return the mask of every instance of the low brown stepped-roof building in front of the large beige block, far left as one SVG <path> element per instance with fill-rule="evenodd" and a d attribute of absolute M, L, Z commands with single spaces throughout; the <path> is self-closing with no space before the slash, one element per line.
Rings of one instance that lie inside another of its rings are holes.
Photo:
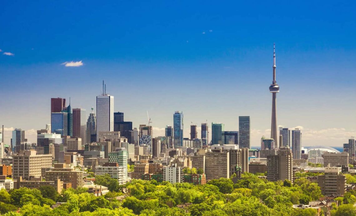
<path fill-rule="evenodd" d="M 54 168 L 46 172 L 47 181 L 55 181 L 57 178 L 64 183 L 71 183 L 74 189 L 84 185 L 84 171 L 67 167 L 66 164 L 54 164 Z"/>

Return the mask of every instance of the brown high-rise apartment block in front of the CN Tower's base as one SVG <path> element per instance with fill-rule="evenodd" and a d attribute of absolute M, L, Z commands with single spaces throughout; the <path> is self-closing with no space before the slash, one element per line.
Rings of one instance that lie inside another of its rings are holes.
<path fill-rule="evenodd" d="M 293 154 L 288 146 L 281 146 L 277 155 L 267 156 L 267 180 L 293 182 Z"/>

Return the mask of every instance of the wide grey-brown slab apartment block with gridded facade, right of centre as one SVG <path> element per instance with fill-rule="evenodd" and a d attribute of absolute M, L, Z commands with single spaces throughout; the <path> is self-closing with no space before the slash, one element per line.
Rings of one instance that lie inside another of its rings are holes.
<path fill-rule="evenodd" d="M 206 180 L 229 178 L 230 157 L 229 152 L 222 149 L 212 149 L 205 153 L 205 176 Z"/>

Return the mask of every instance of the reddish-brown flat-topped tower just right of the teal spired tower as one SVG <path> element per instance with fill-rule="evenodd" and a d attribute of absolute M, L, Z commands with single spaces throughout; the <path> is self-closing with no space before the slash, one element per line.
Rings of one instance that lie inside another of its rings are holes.
<path fill-rule="evenodd" d="M 82 143 L 87 143 L 87 111 L 85 109 L 73 109 L 73 137 L 82 138 Z"/>

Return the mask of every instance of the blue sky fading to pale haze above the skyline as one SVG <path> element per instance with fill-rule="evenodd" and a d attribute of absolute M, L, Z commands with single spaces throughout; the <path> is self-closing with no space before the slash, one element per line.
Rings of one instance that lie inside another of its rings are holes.
<path fill-rule="evenodd" d="M 138 126 L 148 110 L 154 135 L 175 110 L 185 137 L 190 122 L 237 130 L 238 116 L 250 115 L 258 146 L 270 135 L 275 42 L 277 124 L 303 128 L 304 146 L 341 146 L 356 134 L 355 9 L 352 1 L 3 2 L 0 124 L 35 142 L 51 97 L 89 112 L 105 79 L 115 111 Z M 83 65 L 62 65 L 71 61 Z"/>

